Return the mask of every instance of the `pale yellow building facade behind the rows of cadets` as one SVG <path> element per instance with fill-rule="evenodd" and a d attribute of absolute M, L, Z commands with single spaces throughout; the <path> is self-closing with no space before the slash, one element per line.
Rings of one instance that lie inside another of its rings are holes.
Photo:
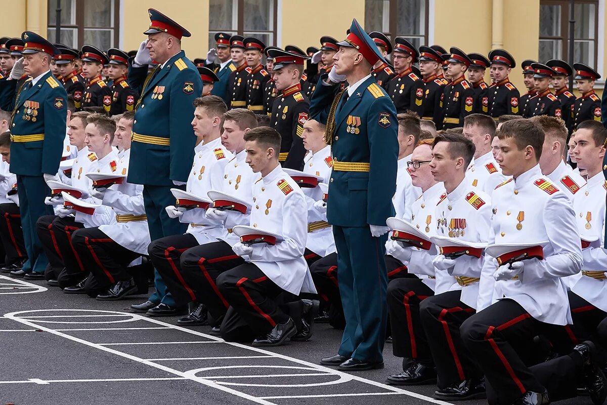
<path fill-rule="evenodd" d="M 575 30 L 578 55 L 584 55 L 580 57 L 603 77 L 607 73 L 605 1 L 576 0 L 575 11 L 579 20 Z M 63 43 L 78 47 L 84 38 L 94 38 L 108 43 L 108 47 L 137 49 L 146 39 L 142 33 L 149 24 L 146 10 L 152 7 L 192 33 L 191 38 L 183 39 L 183 48 L 192 59 L 206 55 L 209 33 L 212 35 L 216 30 L 245 35 L 259 33 L 269 44 L 293 44 L 305 49 L 319 46 L 322 35 L 343 38 L 353 17 L 367 30 L 384 32 L 389 32 L 388 27 L 401 27 L 398 29 L 405 32 L 410 28 L 403 27 L 404 22 L 412 21 L 410 25 L 419 26 L 419 32 L 405 33 L 418 35 L 416 44 L 439 44 L 447 50 L 456 46 L 464 52 L 483 54 L 503 48 L 512 53 L 518 66 L 526 59 L 538 60 L 546 52 L 563 57 L 568 50 L 567 36 L 560 36 L 568 29 L 568 0 L 248 0 L 246 4 L 243 0 L 61 0 L 60 3 L 65 15 L 61 19 L 62 30 L 64 25 L 72 27 L 65 41 L 62 36 Z M 24 30 L 32 30 L 54 41 L 56 4 L 56 0 L 0 0 L 0 9 L 6 13 L 0 35 L 18 36 Z M 245 7 L 249 9 L 242 10 Z M 407 10 L 420 15 L 410 19 Z M 369 27 L 365 19 L 375 26 Z M 520 67 L 513 69 L 511 80 L 524 93 Z M 597 90 L 602 87 L 603 81 L 597 82 Z"/>

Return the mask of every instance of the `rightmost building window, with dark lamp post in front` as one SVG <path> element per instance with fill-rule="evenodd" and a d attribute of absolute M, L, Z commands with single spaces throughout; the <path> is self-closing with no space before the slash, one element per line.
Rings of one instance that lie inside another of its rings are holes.
<path fill-rule="evenodd" d="M 550 59 L 569 61 L 569 1 L 541 0 L 541 62 Z M 599 1 L 576 0 L 574 4 L 574 62 L 597 68 Z"/>

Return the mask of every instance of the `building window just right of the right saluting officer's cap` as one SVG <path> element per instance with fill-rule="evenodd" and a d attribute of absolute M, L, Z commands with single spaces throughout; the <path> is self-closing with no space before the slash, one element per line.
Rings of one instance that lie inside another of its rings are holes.
<path fill-rule="evenodd" d="M 394 40 L 402 36 L 415 47 L 428 42 L 429 0 L 365 0 L 365 30 Z"/>

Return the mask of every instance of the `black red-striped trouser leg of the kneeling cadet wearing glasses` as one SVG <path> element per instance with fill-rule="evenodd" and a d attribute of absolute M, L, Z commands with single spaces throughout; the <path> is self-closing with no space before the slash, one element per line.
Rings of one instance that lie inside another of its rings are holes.
<path fill-rule="evenodd" d="M 418 278 L 399 278 L 388 284 L 388 314 L 392 327 L 392 351 L 396 357 L 415 359 L 434 366 L 426 332 L 419 316 L 419 304 L 434 291 Z M 407 361 L 405 360 L 403 364 Z"/>

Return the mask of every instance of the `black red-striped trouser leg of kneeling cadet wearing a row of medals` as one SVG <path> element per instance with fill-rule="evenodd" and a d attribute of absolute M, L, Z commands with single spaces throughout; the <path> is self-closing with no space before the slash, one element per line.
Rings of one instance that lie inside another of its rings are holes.
<path fill-rule="evenodd" d="M 474 308 L 459 301 L 460 296 L 459 290 L 447 291 L 419 304 L 424 332 L 426 336 L 432 336 L 427 342 L 436 366 L 439 389 L 482 376 L 459 335 L 461 324 L 475 313 Z"/>

